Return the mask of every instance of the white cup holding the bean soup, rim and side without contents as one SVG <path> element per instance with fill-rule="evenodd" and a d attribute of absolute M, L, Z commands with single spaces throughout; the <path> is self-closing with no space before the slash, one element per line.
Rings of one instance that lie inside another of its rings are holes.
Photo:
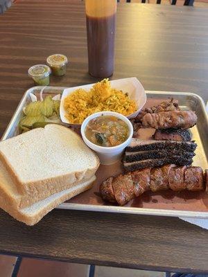
<path fill-rule="evenodd" d="M 89 139 L 87 139 L 87 137 L 85 136 L 85 129 L 87 127 L 87 124 L 89 123 L 89 120 L 92 120 L 92 119 L 94 119 L 98 116 L 102 116 L 102 115 L 103 116 L 115 116 L 116 118 L 123 120 L 128 125 L 128 128 L 129 128 L 128 139 L 126 141 L 124 141 L 123 143 L 116 145 L 116 146 L 112 146 L 112 147 L 104 147 L 104 146 L 96 145 L 96 144 L 92 143 L 91 141 L 89 141 Z M 119 161 L 121 159 L 121 155 L 123 153 L 124 148 L 130 143 L 130 141 L 132 139 L 133 127 L 132 127 L 132 123 L 130 123 L 130 120 L 128 120 L 128 118 L 126 118 L 122 114 L 118 114 L 114 111 L 100 111 L 96 114 L 92 114 L 91 116 L 88 116 L 83 121 L 83 124 L 81 126 L 81 134 L 83 136 L 83 141 L 85 141 L 87 146 L 89 146 L 89 148 L 91 148 L 92 150 L 94 150 L 96 152 L 96 154 L 98 155 L 98 157 L 100 159 L 101 164 L 111 165 L 112 163 L 116 163 L 116 161 Z"/>

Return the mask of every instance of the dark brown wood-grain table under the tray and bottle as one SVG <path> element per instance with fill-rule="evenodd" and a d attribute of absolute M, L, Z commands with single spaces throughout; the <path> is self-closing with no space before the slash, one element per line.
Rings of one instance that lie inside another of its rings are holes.
<path fill-rule="evenodd" d="M 0 16 L 0 132 L 33 86 L 28 67 L 69 57 L 51 85 L 94 82 L 87 74 L 79 1 L 17 1 Z M 208 95 L 208 10 L 120 4 L 113 78 L 136 76 L 148 90 Z M 171 217 L 52 211 L 33 227 L 0 212 L 1 253 L 115 267 L 208 273 L 208 231 Z"/>

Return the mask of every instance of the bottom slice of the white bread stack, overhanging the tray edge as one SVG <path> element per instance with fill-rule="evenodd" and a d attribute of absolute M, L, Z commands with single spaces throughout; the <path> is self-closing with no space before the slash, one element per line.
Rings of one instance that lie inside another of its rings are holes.
<path fill-rule="evenodd" d="M 24 222 L 27 225 L 34 225 L 39 222 L 42 217 L 44 217 L 44 215 L 49 213 L 53 208 L 62 202 L 67 201 L 67 199 L 70 199 L 80 193 L 83 193 L 83 191 L 88 190 L 89 188 L 92 188 L 95 180 L 96 177 L 93 176 L 88 181 L 77 184 L 73 188 L 62 190 L 60 193 L 55 193 L 54 195 L 51 195 L 50 197 L 47 197 L 46 199 L 37 202 L 28 208 L 23 208 L 20 210 L 12 208 L 9 203 L 5 202 L 3 195 L 0 194 L 0 207 L 12 215 L 12 217 L 15 217 L 16 220 Z"/>

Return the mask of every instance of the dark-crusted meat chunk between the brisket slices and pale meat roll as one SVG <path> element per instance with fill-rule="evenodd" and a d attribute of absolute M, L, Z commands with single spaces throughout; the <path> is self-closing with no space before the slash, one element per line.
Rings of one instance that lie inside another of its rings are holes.
<path fill-rule="evenodd" d="M 191 134 L 187 129 L 157 129 L 153 134 L 157 141 L 191 141 Z"/>

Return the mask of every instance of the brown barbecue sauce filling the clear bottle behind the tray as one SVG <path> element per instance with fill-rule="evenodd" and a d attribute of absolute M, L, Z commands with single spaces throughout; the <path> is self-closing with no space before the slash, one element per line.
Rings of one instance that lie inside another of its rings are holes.
<path fill-rule="evenodd" d="M 86 17 L 89 74 L 96 78 L 110 77 L 114 71 L 116 14 Z"/>

